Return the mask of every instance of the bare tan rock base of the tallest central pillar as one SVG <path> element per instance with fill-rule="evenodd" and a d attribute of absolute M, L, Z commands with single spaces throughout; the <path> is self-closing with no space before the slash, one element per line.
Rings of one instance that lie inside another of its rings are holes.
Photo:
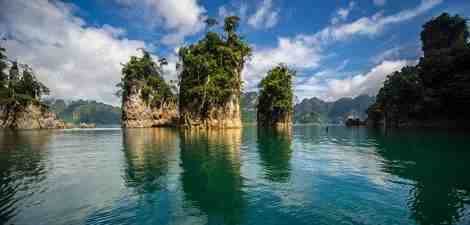
<path fill-rule="evenodd" d="M 241 128 L 240 97 L 233 94 L 222 106 L 207 110 L 207 115 L 197 112 L 197 106 L 180 106 L 180 125 L 188 128 Z"/>

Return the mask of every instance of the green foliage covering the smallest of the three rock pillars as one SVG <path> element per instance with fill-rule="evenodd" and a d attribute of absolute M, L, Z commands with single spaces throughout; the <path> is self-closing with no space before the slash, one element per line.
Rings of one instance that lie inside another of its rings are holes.
<path fill-rule="evenodd" d="M 258 99 L 258 122 L 262 124 L 275 123 L 292 115 L 294 94 L 292 79 L 295 71 L 280 64 L 268 71 L 261 80 Z"/>

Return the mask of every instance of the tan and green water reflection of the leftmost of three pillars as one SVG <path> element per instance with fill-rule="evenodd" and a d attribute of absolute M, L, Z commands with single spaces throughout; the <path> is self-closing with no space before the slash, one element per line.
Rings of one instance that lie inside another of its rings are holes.
<path fill-rule="evenodd" d="M 165 128 L 123 130 L 128 186 L 145 193 L 163 188 L 169 155 L 177 148 L 176 134 Z"/>

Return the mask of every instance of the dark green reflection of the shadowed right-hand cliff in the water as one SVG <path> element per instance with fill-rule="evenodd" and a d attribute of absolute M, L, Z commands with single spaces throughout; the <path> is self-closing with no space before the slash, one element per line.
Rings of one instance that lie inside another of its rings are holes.
<path fill-rule="evenodd" d="M 470 203 L 468 143 L 422 133 L 376 135 L 384 170 L 415 182 L 409 199 L 419 224 L 454 224 Z"/>

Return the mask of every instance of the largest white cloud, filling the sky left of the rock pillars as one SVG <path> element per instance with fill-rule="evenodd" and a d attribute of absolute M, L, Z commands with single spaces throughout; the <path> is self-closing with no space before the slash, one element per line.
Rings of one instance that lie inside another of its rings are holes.
<path fill-rule="evenodd" d="M 114 93 L 121 63 L 144 42 L 123 38 L 120 28 L 87 26 L 60 2 L 0 1 L 0 8 L 7 54 L 32 65 L 53 97 L 119 102 Z"/>

